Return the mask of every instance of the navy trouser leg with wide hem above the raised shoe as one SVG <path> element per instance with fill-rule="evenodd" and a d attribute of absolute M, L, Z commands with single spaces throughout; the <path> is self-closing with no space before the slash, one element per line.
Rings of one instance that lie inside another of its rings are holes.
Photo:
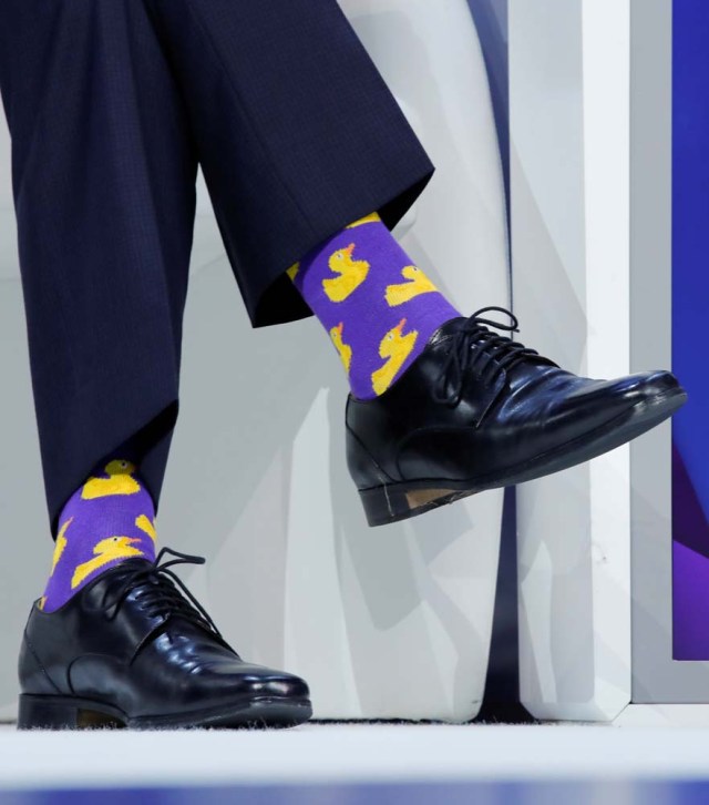
<path fill-rule="evenodd" d="M 146 0 L 255 326 L 310 314 L 284 272 L 433 166 L 335 0 Z"/>

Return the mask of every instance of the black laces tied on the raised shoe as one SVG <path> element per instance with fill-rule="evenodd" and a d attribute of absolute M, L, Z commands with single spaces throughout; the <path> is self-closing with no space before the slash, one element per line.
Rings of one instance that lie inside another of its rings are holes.
<path fill-rule="evenodd" d="M 510 317 L 510 324 L 484 318 L 485 313 L 502 313 Z M 538 357 L 535 349 L 528 349 L 508 336 L 492 333 L 487 329 L 489 326 L 507 333 L 520 332 L 517 317 L 504 307 L 482 307 L 470 316 L 452 337 L 451 349 L 433 389 L 438 402 L 456 406 L 463 395 L 466 378 L 472 373 L 489 384 L 503 369 L 510 369 L 526 358 Z"/>

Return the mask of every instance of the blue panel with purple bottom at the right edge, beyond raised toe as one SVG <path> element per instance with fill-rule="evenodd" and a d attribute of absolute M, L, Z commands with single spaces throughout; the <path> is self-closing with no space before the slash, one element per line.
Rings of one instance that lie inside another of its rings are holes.
<path fill-rule="evenodd" d="M 675 0 L 672 35 L 674 656 L 709 660 L 709 2 Z"/>

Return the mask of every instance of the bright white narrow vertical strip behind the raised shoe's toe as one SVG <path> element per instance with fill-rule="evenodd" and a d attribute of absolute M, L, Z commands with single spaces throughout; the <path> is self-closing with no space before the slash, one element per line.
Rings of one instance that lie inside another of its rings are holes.
<path fill-rule="evenodd" d="M 584 0 L 587 366 L 630 371 L 630 0 Z M 630 448 L 590 462 L 594 705 L 630 701 Z"/>

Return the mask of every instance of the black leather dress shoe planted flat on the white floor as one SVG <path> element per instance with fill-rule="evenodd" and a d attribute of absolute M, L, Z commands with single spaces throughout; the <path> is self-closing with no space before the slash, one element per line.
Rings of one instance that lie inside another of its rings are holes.
<path fill-rule="evenodd" d="M 164 553 L 177 559 L 158 564 Z M 20 653 L 20 728 L 291 726 L 310 717 L 306 683 L 244 662 L 168 570 L 181 562 L 204 559 L 163 549 L 155 563 L 107 570 L 55 612 L 34 603 Z"/>

